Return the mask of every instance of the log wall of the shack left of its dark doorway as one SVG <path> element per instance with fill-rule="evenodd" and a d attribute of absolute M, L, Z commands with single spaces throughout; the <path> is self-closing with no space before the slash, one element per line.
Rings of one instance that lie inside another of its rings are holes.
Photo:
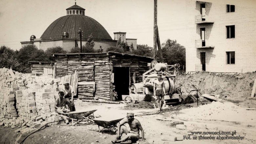
<path fill-rule="evenodd" d="M 93 99 L 95 96 L 100 99 L 110 100 L 109 57 L 94 55 L 57 57 L 56 77 L 60 77 L 63 74 L 73 74 L 75 70 L 78 73 L 78 98 Z M 79 82 L 95 82 L 95 92 L 93 85 L 79 85 Z"/>

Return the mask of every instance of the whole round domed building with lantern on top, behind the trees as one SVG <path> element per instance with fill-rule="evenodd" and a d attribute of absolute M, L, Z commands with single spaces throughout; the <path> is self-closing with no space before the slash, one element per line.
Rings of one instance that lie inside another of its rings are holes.
<path fill-rule="evenodd" d="M 115 32 L 114 40 L 106 29 L 95 19 L 85 15 L 85 9 L 75 5 L 67 8 L 67 15 L 56 19 L 38 39 L 34 35 L 30 41 L 21 42 L 21 45 L 36 45 L 37 48 L 46 50 L 47 48 L 60 46 L 69 51 L 73 47 L 80 48 L 80 34 L 82 31 L 82 45 L 85 45 L 87 39 L 92 34 L 95 42 L 94 49 L 104 51 L 110 46 L 116 46 L 118 38 L 127 43 L 127 46 L 133 45 L 137 49 L 137 39 L 126 39 L 126 32 Z"/>

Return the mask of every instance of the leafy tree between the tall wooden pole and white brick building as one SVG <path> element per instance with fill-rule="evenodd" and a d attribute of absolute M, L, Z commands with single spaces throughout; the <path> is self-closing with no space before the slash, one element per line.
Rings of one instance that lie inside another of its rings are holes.
<path fill-rule="evenodd" d="M 185 47 L 177 43 L 176 40 L 167 39 L 165 43 L 162 43 L 163 58 L 166 58 L 167 64 L 179 63 L 181 66 L 185 66 Z"/>

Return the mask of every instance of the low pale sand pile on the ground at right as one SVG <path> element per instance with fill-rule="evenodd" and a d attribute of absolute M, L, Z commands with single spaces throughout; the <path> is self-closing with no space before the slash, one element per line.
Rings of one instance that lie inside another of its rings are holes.
<path fill-rule="evenodd" d="M 248 111 L 231 102 L 221 103 L 212 102 L 207 105 L 201 105 L 197 108 L 189 108 L 180 111 L 179 118 L 192 120 L 223 120 L 236 122 L 255 122 L 256 112 Z"/>

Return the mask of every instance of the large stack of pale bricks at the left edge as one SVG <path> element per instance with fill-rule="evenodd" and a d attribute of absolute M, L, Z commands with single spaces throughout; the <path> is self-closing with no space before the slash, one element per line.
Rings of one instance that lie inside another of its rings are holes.
<path fill-rule="evenodd" d="M 14 76 L 11 72 L 0 69 L 0 125 L 12 128 L 19 125 L 17 132 L 29 132 L 29 128 L 37 128 L 42 123 L 61 120 L 54 108 L 59 88 L 63 88 L 61 78 L 19 72 Z"/>

